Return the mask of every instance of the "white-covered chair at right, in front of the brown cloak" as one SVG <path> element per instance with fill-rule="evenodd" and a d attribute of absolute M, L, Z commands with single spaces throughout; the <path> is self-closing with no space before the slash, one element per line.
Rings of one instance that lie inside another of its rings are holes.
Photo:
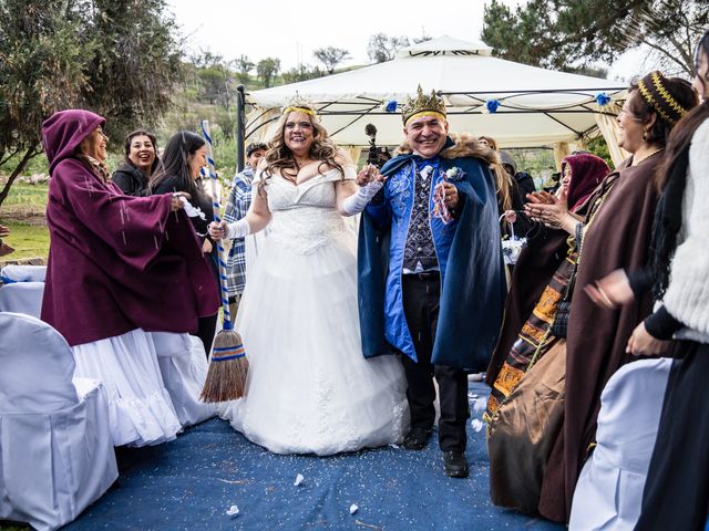
<path fill-rule="evenodd" d="M 633 530 L 672 361 L 641 360 L 621 367 L 600 395 L 596 448 L 576 483 L 571 530 Z"/>

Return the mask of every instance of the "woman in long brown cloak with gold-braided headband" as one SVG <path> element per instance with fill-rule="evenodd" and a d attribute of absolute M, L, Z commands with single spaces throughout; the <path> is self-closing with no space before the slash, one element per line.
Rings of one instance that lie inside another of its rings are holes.
<path fill-rule="evenodd" d="M 578 473 L 593 448 L 600 392 L 630 361 L 628 339 L 651 311 L 649 295 L 607 310 L 594 304 L 583 288 L 616 269 L 646 263 L 658 198 L 654 177 L 669 132 L 696 104 L 688 82 L 653 72 L 630 87 L 617 117 L 618 144 L 631 156 L 589 198 L 566 340 L 563 429 L 552 448 L 538 506 L 552 520 L 568 520 Z M 536 208 L 545 212 L 553 206 Z"/>

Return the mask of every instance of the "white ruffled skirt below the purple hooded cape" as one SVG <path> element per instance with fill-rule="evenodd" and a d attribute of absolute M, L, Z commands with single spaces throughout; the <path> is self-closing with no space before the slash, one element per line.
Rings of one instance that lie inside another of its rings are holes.
<path fill-rule="evenodd" d="M 103 382 L 113 445 L 147 446 L 182 429 L 163 384 L 151 334 L 133 330 L 73 347 L 74 376 Z"/>

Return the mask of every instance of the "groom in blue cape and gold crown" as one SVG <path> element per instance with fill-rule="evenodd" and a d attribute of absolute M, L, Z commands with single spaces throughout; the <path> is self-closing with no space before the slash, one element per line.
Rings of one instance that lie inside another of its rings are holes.
<path fill-rule="evenodd" d="M 408 449 L 425 447 L 435 418 L 450 477 L 465 459 L 467 373 L 484 371 L 495 346 L 505 298 L 494 152 L 472 136 L 448 136 L 435 93 L 402 108 L 407 143 L 381 174 L 360 171 L 383 188 L 362 214 L 359 314 L 362 352 L 399 353 L 408 382 Z M 372 175 L 373 174 L 373 175 Z"/>

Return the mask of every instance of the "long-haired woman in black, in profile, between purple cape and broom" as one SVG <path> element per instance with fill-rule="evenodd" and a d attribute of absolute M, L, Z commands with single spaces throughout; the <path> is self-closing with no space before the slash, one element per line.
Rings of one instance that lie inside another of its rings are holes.
<path fill-rule="evenodd" d="M 215 282 L 210 289 L 217 293 L 219 272 L 216 262 L 216 246 L 213 246 L 207 231 L 208 225 L 214 219 L 214 209 L 212 199 L 195 183 L 199 177 L 201 169 L 206 165 L 207 145 L 204 138 L 188 131 L 179 131 L 167 140 L 163 153 L 163 166 L 151 179 L 150 192 L 184 192 L 188 195 L 188 201 L 196 210 L 189 220 L 202 243 L 205 261 L 214 274 Z M 213 315 L 199 317 L 196 335 L 202 340 L 207 356 L 212 351 L 216 326 L 216 312 Z"/>

